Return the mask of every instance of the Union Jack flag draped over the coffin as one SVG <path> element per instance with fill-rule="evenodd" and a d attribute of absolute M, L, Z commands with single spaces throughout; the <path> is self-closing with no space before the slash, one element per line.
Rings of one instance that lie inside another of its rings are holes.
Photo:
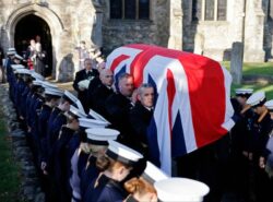
<path fill-rule="evenodd" d="M 234 126 L 229 100 L 232 76 L 203 56 L 151 45 L 115 49 L 106 67 L 115 79 L 127 72 L 134 85 L 156 90 L 154 117 L 147 132 L 151 161 L 171 174 L 171 157 L 190 153 L 227 133 Z"/>

